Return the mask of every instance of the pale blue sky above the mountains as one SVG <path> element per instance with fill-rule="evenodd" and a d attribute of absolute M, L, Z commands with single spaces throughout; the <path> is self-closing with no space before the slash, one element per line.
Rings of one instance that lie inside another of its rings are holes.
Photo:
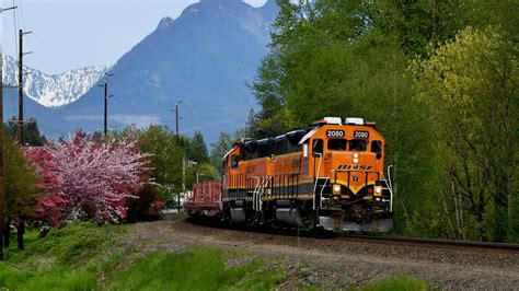
<path fill-rule="evenodd" d="M 198 0 L 0 0 L 2 49 L 16 55 L 18 31 L 33 31 L 24 37 L 24 58 L 35 69 L 59 73 L 94 65 L 113 65 L 150 34 L 163 16 L 177 18 Z M 260 7 L 266 0 L 245 0 Z M 16 27 L 15 27 L 16 26 Z"/>

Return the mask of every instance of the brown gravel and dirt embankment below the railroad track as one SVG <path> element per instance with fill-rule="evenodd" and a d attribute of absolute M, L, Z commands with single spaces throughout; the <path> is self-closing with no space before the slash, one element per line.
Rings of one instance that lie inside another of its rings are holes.
<path fill-rule="evenodd" d="M 404 272 L 447 290 L 519 290 L 519 252 L 287 236 L 184 220 L 140 223 L 123 240 L 143 245 L 143 252 L 180 252 L 198 245 L 266 257 L 298 278 L 281 289 L 300 284 L 348 288 Z"/>

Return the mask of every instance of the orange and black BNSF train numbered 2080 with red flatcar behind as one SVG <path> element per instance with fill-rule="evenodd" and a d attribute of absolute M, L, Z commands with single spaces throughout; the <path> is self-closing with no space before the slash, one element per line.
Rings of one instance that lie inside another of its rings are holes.
<path fill-rule="evenodd" d="M 387 232 L 393 226 L 384 139 L 362 118 L 326 117 L 285 135 L 235 142 L 221 184 L 196 185 L 189 216 L 246 225 Z"/>

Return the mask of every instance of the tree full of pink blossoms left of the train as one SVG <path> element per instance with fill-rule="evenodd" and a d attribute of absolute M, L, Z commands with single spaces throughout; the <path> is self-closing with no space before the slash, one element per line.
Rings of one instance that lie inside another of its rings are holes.
<path fill-rule="evenodd" d="M 78 131 L 70 140 L 31 148 L 25 155 L 39 171 L 38 187 L 58 196 L 39 199 L 38 211 L 51 216 L 51 224 L 59 216 L 119 222 L 126 218 L 125 199 L 146 183 L 148 155 L 131 138 L 104 142 Z"/>

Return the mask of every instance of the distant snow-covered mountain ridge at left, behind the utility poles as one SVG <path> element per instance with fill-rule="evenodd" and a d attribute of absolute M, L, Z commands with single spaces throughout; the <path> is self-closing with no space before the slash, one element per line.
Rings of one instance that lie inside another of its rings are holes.
<path fill-rule="evenodd" d="M 18 83 L 16 60 L 8 55 L 2 55 L 3 83 Z M 86 67 L 67 71 L 60 74 L 45 72 L 24 67 L 23 91 L 25 95 L 45 107 L 57 107 L 77 101 L 90 88 L 95 85 L 103 73 L 109 70 L 106 66 Z"/>

